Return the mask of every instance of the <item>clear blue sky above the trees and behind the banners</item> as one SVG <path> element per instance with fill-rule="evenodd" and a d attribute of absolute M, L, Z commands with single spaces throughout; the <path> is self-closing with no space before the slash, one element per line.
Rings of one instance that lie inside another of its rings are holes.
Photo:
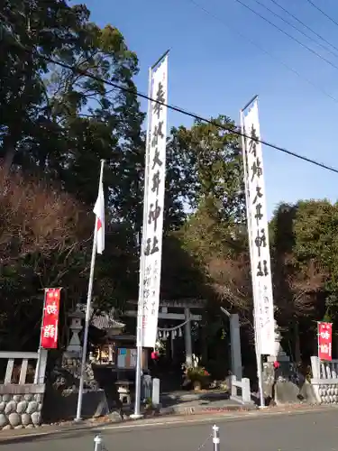
<path fill-rule="evenodd" d="M 213 15 L 206 14 L 191 0 L 87 0 L 85 3 L 94 22 L 116 26 L 130 49 L 137 53 L 140 74 L 136 82 L 140 91 L 147 92 L 149 66 L 170 48 L 170 104 L 206 117 L 229 115 L 237 122 L 240 108 L 258 94 L 264 140 L 338 167 L 338 100 L 334 102 L 320 90 L 338 99 L 338 69 L 288 39 L 235 0 L 194 1 Z M 242 1 L 338 67 L 338 51 L 334 58 L 271 16 L 254 0 Z M 278 1 L 338 48 L 338 26 L 306 0 Z M 292 21 L 270 0 L 260 0 L 260 3 Z M 338 22 L 336 0 L 315 0 L 315 3 Z M 297 70 L 301 77 L 279 60 Z M 318 88 L 308 84 L 306 78 Z M 142 106 L 145 109 L 144 103 Z M 187 117 L 169 112 L 169 125 L 190 123 Z M 338 174 L 269 147 L 264 147 L 263 152 L 269 216 L 281 201 L 295 202 L 299 198 L 335 201 L 338 197 Z"/>

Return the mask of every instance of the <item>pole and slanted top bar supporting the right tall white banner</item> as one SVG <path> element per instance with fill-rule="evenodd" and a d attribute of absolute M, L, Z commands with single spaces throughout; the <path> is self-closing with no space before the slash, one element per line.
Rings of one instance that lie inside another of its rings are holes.
<path fill-rule="evenodd" d="M 248 226 L 248 237 L 249 237 L 249 249 L 251 253 L 251 217 L 249 214 L 249 188 L 248 188 L 248 168 L 247 168 L 247 161 L 246 161 L 246 131 L 244 127 L 244 111 L 248 106 L 251 105 L 254 101 L 258 99 L 258 95 L 251 98 L 250 102 L 244 106 L 240 111 L 240 122 L 241 122 L 241 132 L 242 132 L 242 160 L 243 160 L 243 170 L 244 170 L 244 185 L 245 185 L 245 207 L 246 207 L 246 217 L 247 217 L 247 226 Z M 251 262 L 251 274 L 253 274 L 254 269 L 252 265 L 252 258 L 250 258 Z M 256 292 L 254 286 L 252 286 L 252 297 L 255 299 Z M 254 329 L 254 337 L 255 337 L 255 354 L 256 354 L 256 364 L 257 364 L 257 377 L 258 377 L 258 385 L 259 385 L 259 391 L 260 391 L 260 408 L 264 408 L 265 406 L 265 400 L 264 400 L 264 392 L 263 392 L 263 374 L 262 374 L 262 366 L 261 366 L 261 354 L 260 354 L 260 340 L 257 334 L 257 312 L 255 308 L 255 302 L 253 301 L 253 329 Z"/>

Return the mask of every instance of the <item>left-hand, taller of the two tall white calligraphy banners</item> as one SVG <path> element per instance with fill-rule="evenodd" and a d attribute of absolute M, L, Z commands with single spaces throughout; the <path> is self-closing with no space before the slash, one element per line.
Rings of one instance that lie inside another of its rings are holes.
<path fill-rule="evenodd" d="M 151 69 L 151 98 L 168 102 L 168 55 L 156 69 Z M 139 315 L 142 314 L 142 346 L 155 347 L 159 304 L 160 267 L 162 256 L 163 207 L 166 175 L 167 107 L 151 102 L 148 117 L 146 181 L 142 239 L 142 274 L 140 278 Z M 142 312 L 140 311 L 142 310 Z M 140 336 L 138 334 L 140 345 Z"/>

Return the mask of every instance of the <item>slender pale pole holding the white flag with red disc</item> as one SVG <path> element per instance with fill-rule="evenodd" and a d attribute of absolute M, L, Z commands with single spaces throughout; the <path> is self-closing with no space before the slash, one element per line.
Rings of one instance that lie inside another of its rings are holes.
<path fill-rule="evenodd" d="M 104 176 L 104 165 L 105 165 L 105 160 L 101 160 L 100 180 L 99 180 L 99 185 L 98 185 L 99 189 L 101 187 L 103 176 Z M 89 320 L 90 320 L 90 306 L 91 306 L 91 300 L 92 300 L 94 269 L 95 269 L 95 261 L 96 261 L 96 245 L 97 245 L 97 216 L 96 216 L 96 220 L 95 220 L 92 260 L 90 263 L 90 273 L 89 273 L 89 281 L 88 281 L 85 332 L 84 332 L 84 337 L 83 337 L 80 382 L 79 382 L 79 386 L 78 386 L 78 409 L 77 409 L 77 417 L 76 417 L 75 421 L 81 420 L 83 385 L 84 385 L 85 366 L 86 366 L 86 358 L 87 358 L 87 342 L 88 342 L 88 330 L 89 330 Z"/>

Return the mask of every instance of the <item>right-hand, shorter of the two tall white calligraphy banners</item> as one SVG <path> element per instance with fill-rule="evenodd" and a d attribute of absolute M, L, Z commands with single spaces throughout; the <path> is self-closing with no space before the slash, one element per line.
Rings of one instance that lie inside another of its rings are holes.
<path fill-rule="evenodd" d="M 242 111 L 243 163 L 251 253 L 256 340 L 260 354 L 275 354 L 275 321 L 269 255 L 268 217 L 257 97 Z"/>

